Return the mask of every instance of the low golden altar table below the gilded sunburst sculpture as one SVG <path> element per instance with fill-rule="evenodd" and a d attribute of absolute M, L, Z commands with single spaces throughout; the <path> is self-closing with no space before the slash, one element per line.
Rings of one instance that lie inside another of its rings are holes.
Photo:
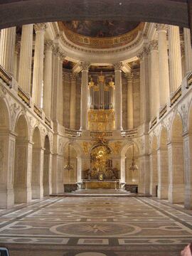
<path fill-rule="evenodd" d="M 119 189 L 119 179 L 115 181 L 82 180 L 82 189 Z"/>

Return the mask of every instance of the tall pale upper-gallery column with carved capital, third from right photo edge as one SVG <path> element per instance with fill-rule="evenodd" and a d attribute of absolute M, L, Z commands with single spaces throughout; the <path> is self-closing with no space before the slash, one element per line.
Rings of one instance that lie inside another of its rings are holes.
<path fill-rule="evenodd" d="M 159 106 L 164 107 L 169 98 L 169 61 L 166 40 L 166 25 L 157 24 L 159 51 Z"/>

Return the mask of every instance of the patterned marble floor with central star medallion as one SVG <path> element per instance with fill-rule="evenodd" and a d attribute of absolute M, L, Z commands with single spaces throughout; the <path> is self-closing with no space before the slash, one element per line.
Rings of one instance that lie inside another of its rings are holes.
<path fill-rule="evenodd" d="M 192 211 L 155 198 L 54 197 L 0 210 L 11 256 L 177 256 Z"/>

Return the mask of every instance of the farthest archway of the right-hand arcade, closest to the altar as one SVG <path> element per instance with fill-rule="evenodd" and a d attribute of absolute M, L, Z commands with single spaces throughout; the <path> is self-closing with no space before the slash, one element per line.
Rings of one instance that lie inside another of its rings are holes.
<path fill-rule="evenodd" d="M 154 135 L 154 137 L 152 138 L 152 141 L 151 141 L 151 154 L 149 156 L 150 194 L 152 196 L 157 196 L 157 188 L 158 188 L 157 146 L 158 146 L 158 139 L 157 139 L 156 135 Z"/>

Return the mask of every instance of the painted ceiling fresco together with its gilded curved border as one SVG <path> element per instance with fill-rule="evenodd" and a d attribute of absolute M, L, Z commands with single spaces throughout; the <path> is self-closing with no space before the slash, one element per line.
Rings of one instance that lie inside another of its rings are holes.
<path fill-rule="evenodd" d="M 144 23 L 130 21 L 59 21 L 58 25 L 69 41 L 99 49 L 127 45 L 144 29 Z"/>

